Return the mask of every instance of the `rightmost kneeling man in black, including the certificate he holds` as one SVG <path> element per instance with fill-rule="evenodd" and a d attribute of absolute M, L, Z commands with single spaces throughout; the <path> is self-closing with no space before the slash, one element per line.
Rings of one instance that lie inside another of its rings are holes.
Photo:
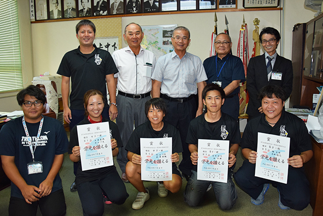
<path fill-rule="evenodd" d="M 281 87 L 263 87 L 259 100 L 263 113 L 251 119 L 243 133 L 242 154 L 247 160 L 235 174 L 236 183 L 255 205 L 263 203 L 272 183 L 281 209 L 302 210 L 310 199 L 303 164 L 313 156 L 307 128 L 300 118 L 283 109 L 286 95 Z"/>

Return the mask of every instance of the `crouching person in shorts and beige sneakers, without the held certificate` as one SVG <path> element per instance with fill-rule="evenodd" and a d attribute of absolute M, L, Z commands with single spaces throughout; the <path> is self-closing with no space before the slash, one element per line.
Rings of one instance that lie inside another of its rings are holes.
<path fill-rule="evenodd" d="M 182 187 L 182 176 L 175 164 L 175 162 L 179 161 L 178 153 L 183 152 L 180 133 L 173 125 L 163 121 L 166 114 L 164 99 L 153 98 L 147 101 L 145 103 L 145 113 L 149 121 L 136 127 L 126 146 L 129 160 L 126 165 L 126 174 L 129 182 L 139 191 L 136 200 L 132 203 L 133 209 L 142 208 L 145 201 L 149 199 L 149 191 L 141 180 L 140 138 L 172 138 L 172 180 L 157 182 L 158 196 L 166 197 L 168 191 L 176 193 Z"/>

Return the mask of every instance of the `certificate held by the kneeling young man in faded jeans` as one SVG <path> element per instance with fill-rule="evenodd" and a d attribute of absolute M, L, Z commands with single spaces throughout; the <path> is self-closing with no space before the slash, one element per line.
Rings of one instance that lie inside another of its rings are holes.
<path fill-rule="evenodd" d="M 228 181 L 229 140 L 198 140 L 197 180 Z"/>

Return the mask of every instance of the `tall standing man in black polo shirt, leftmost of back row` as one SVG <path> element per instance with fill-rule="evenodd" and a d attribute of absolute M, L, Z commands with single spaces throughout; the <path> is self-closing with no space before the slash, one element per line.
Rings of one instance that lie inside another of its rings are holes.
<path fill-rule="evenodd" d="M 118 115 L 114 80 L 114 74 L 118 73 L 118 69 L 109 52 L 93 45 L 94 23 L 90 20 L 81 20 L 76 25 L 76 37 L 80 46 L 64 55 L 57 72 L 62 75 L 64 120 L 70 124 L 70 129 L 83 120 L 85 113 L 83 96 L 91 89 L 99 90 L 104 96 L 102 116 L 114 120 Z M 69 106 L 70 79 L 72 79 L 72 92 Z M 110 107 L 107 104 L 105 82 L 110 95 Z M 76 168 L 77 165 L 74 167 L 75 173 Z M 76 191 L 74 183 L 71 191 Z"/>

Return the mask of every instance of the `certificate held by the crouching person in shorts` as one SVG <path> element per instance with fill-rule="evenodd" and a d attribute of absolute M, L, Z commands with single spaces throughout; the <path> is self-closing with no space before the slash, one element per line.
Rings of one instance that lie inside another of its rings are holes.
<path fill-rule="evenodd" d="M 140 138 L 141 180 L 172 180 L 172 138 Z"/>

